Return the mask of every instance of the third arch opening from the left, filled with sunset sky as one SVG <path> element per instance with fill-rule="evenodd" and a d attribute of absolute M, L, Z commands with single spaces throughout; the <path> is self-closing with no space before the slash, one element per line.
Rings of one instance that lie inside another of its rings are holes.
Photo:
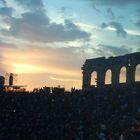
<path fill-rule="evenodd" d="M 126 83 L 126 73 L 127 73 L 127 69 L 124 66 L 120 69 L 119 83 Z"/>

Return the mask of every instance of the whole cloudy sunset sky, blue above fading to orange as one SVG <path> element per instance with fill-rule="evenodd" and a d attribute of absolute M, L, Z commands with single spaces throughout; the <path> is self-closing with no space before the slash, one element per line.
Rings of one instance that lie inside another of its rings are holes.
<path fill-rule="evenodd" d="M 86 59 L 139 51 L 140 0 L 0 0 L 0 75 L 28 89 L 81 88 Z"/>

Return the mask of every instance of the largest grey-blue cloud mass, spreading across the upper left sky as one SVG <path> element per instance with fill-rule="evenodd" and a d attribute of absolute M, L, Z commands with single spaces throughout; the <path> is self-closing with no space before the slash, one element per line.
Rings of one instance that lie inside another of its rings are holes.
<path fill-rule="evenodd" d="M 6 36 L 34 42 L 66 42 L 90 37 L 90 33 L 81 30 L 71 20 L 65 19 L 63 24 L 51 22 L 41 0 L 15 1 L 28 11 L 22 13 L 20 17 L 12 17 L 12 8 L 0 9 L 1 15 L 10 17 L 3 20 L 9 27 L 1 30 Z"/>

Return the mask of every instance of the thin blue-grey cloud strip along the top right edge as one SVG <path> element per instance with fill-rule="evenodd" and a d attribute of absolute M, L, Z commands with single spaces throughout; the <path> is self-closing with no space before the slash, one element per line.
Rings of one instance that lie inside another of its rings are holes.
<path fill-rule="evenodd" d="M 97 5 L 128 5 L 128 4 L 140 4 L 139 0 L 89 0 Z"/>

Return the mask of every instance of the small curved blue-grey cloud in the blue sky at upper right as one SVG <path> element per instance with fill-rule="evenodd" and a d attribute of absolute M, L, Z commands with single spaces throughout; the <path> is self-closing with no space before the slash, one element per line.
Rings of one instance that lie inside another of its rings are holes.
<path fill-rule="evenodd" d="M 112 27 L 116 30 L 118 36 L 126 37 L 127 32 L 124 30 L 119 22 L 102 23 L 101 28 Z"/>

